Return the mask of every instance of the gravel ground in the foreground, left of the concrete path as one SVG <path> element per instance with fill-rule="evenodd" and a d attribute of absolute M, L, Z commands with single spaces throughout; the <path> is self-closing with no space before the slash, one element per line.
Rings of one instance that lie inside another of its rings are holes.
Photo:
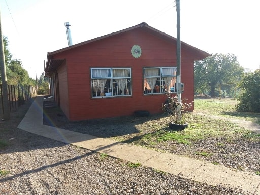
<path fill-rule="evenodd" d="M 1 194 L 249 194 L 142 165 L 134 168 L 120 159 L 22 131 L 17 126 L 31 102 L 0 122 L 0 140 L 7 144 L 0 149 Z M 48 115 L 53 124 L 62 118 L 54 116 Z"/>

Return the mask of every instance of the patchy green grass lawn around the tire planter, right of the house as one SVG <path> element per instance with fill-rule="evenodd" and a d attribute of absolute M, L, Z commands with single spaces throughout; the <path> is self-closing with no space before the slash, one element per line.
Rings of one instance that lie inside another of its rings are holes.
<path fill-rule="evenodd" d="M 214 119 L 205 117 L 198 113 L 207 115 L 217 115 L 221 117 L 238 117 L 249 121 L 258 121 L 260 114 L 256 113 L 237 113 L 235 110 L 236 100 L 234 99 L 196 99 L 195 111 L 187 113 L 186 120 L 188 128 L 184 131 L 171 131 L 168 128 L 169 117 L 161 117 L 159 120 L 150 120 L 145 124 L 137 125 L 140 133 L 133 135 L 132 138 L 119 136 L 118 141 L 125 143 L 134 143 L 143 146 L 156 146 L 167 141 L 174 141 L 177 144 L 192 145 L 199 140 L 212 139 L 216 145 L 224 145 L 217 142 L 217 139 L 224 138 L 226 141 L 232 141 L 238 138 L 244 138 L 251 141 L 258 141 L 259 135 L 238 126 L 228 120 Z M 158 122 L 160 121 L 160 122 Z M 145 126 L 145 129 L 141 126 Z M 148 129 L 149 127 L 152 127 Z"/>

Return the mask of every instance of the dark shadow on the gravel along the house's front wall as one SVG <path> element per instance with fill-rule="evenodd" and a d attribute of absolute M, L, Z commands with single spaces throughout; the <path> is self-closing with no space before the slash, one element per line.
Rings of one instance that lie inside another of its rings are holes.
<path fill-rule="evenodd" d="M 46 103 L 48 104 L 48 102 L 45 102 L 44 104 Z M 43 110 L 44 125 L 90 134 L 102 138 L 140 133 L 136 128 L 138 124 L 150 120 L 157 120 L 162 117 L 162 114 L 154 114 L 148 117 L 137 117 L 133 115 L 84 121 L 69 121 L 62 110 L 57 106 L 49 108 L 44 106 Z"/>

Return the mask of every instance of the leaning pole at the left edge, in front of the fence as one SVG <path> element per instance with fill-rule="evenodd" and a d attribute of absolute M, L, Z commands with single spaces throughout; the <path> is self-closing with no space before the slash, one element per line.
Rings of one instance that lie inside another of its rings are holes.
<path fill-rule="evenodd" d="M 6 76 L 6 62 L 5 62 L 5 53 L 4 53 L 4 40 L 2 36 L 1 28 L 1 14 L 0 14 L 0 70 L 1 70 L 1 81 L 2 81 L 2 91 L 3 91 L 3 110 L 4 110 L 4 120 L 10 119 L 10 109 L 8 101 L 8 90 L 7 90 L 7 76 Z"/>

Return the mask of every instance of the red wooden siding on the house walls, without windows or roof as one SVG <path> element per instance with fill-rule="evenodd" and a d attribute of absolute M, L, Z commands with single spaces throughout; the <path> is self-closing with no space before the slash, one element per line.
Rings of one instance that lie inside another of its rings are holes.
<path fill-rule="evenodd" d="M 142 49 L 140 58 L 131 55 L 136 44 Z M 143 94 L 143 68 L 176 66 L 176 45 L 139 28 L 61 52 L 55 58 L 66 58 L 67 75 L 64 67 L 59 70 L 60 105 L 70 120 L 132 115 L 136 110 L 158 113 L 166 96 Z M 182 97 L 189 101 L 194 100 L 194 59 L 192 53 L 182 49 Z M 90 68 L 94 67 L 131 68 L 132 96 L 91 98 Z"/>

